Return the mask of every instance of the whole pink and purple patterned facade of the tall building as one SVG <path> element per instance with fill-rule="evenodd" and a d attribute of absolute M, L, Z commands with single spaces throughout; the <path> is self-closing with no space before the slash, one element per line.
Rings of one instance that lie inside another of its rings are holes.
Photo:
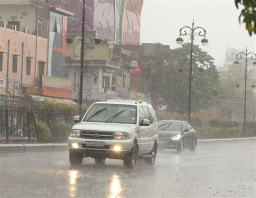
<path fill-rule="evenodd" d="M 49 0 L 50 5 L 74 13 L 68 32 L 82 28 L 83 0 Z M 116 44 L 139 43 L 143 0 L 86 0 L 85 30 Z"/>

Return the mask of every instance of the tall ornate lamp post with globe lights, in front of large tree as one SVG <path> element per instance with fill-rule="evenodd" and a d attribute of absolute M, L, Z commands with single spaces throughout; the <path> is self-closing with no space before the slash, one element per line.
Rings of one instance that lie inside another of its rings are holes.
<path fill-rule="evenodd" d="M 190 114 L 191 114 L 191 84 L 192 84 L 192 61 L 193 61 L 193 43 L 194 43 L 194 37 L 204 37 L 201 40 L 201 44 L 206 46 L 208 45 L 208 40 L 206 37 L 206 30 L 203 27 L 194 27 L 194 19 L 192 22 L 192 27 L 190 26 L 184 26 L 181 27 L 179 30 L 179 37 L 176 39 L 176 43 L 178 45 L 183 44 L 184 40 L 181 38 L 181 36 L 190 36 L 190 42 L 191 42 L 191 50 L 190 50 L 190 83 L 189 83 L 189 94 L 188 94 L 188 122 L 190 122 Z M 199 70 L 200 72 L 203 72 L 203 69 Z"/>

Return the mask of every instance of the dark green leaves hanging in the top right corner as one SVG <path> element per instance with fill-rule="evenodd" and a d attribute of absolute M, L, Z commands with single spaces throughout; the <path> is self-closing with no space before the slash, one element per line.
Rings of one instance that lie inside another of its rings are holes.
<path fill-rule="evenodd" d="M 252 36 L 252 33 L 256 33 L 256 1 L 255 0 L 235 0 L 235 6 L 239 9 L 239 4 L 244 8 L 241 10 L 239 16 L 239 22 L 241 23 L 241 17 L 244 17 L 242 21 L 245 23 L 246 30 Z"/>

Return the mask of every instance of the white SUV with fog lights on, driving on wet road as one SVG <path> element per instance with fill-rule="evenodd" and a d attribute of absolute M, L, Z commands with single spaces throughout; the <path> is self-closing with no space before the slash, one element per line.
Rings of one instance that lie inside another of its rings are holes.
<path fill-rule="evenodd" d="M 84 157 L 104 164 L 106 158 L 122 159 L 134 168 L 138 157 L 154 165 L 158 145 L 157 118 L 151 104 L 142 101 L 93 103 L 81 119 L 75 116 L 69 137 L 71 165 Z"/>

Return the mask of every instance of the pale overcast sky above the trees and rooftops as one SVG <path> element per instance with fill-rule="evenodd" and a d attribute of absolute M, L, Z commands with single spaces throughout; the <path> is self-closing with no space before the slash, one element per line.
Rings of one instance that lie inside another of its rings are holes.
<path fill-rule="evenodd" d="M 156 41 L 171 48 L 177 48 L 176 38 L 183 26 L 195 26 L 206 29 L 208 46 L 202 46 L 201 38 L 196 37 L 195 44 L 207 51 L 220 66 L 225 61 L 227 48 L 238 50 L 248 47 L 255 52 L 255 36 L 250 37 L 244 24 L 239 24 L 239 10 L 234 0 L 144 0 L 142 10 L 141 43 Z M 184 37 L 184 41 L 189 41 Z"/>

